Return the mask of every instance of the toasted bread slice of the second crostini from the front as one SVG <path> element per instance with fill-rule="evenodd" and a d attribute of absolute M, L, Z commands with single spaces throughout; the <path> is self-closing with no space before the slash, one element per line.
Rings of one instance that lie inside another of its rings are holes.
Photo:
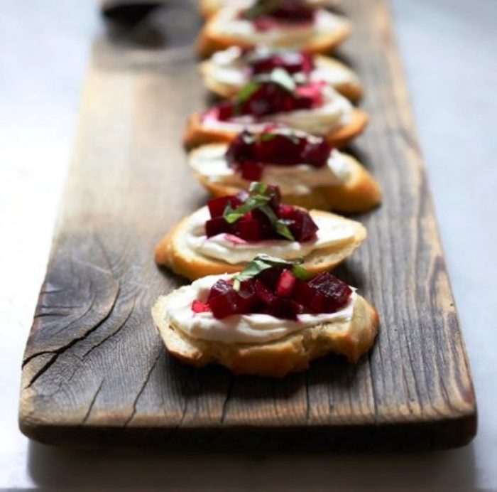
<path fill-rule="evenodd" d="M 340 220 L 354 229 L 354 237 L 350 240 L 344 240 L 343 242 L 337 242 L 335 245 L 314 250 L 305 257 L 305 263 L 302 266 L 314 276 L 331 270 L 349 257 L 366 239 L 367 233 L 364 226 L 355 220 L 339 217 L 339 215 L 323 212 L 322 210 L 311 210 L 310 215 L 312 218 Z M 190 217 L 184 218 L 160 240 L 155 248 L 155 262 L 169 267 L 176 274 L 190 280 L 206 277 L 207 275 L 236 273 L 244 269 L 246 262 L 231 264 L 199 255 L 192 250 L 187 244 L 189 220 Z"/>

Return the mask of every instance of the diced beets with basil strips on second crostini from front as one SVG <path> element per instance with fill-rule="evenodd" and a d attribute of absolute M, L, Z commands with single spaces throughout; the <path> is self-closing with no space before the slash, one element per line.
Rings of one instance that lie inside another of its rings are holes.
<path fill-rule="evenodd" d="M 229 234 L 234 244 L 236 237 L 248 242 L 305 242 L 318 230 L 307 210 L 281 203 L 278 186 L 252 183 L 249 193 L 212 198 L 207 206 L 211 215 L 205 223 L 207 237 Z"/>

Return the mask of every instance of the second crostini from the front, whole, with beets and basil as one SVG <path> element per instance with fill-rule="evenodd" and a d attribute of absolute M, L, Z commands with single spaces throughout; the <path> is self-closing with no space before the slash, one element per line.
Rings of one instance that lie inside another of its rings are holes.
<path fill-rule="evenodd" d="M 249 192 L 212 198 L 175 225 L 155 248 L 155 261 L 195 280 L 240 272 L 259 253 L 295 260 L 310 274 L 337 266 L 366 238 L 355 220 L 281 202 L 277 186 L 254 182 Z"/>

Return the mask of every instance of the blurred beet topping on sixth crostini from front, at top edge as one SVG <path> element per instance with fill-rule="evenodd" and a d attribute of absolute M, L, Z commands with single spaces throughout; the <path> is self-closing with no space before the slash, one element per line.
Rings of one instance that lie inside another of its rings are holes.
<path fill-rule="evenodd" d="M 304 0 L 257 0 L 241 13 L 252 21 L 257 31 L 269 31 L 278 26 L 302 26 L 312 23 L 315 11 Z"/>

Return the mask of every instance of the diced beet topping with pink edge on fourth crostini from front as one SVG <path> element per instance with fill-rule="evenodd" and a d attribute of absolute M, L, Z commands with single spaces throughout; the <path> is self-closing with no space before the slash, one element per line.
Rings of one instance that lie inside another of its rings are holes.
<path fill-rule="evenodd" d="M 215 105 L 203 119 L 226 121 L 246 115 L 254 119 L 299 109 L 313 109 L 323 104 L 323 82 L 295 85 L 293 77 L 283 68 L 270 75 L 258 75 L 241 88 L 236 97 Z"/>

